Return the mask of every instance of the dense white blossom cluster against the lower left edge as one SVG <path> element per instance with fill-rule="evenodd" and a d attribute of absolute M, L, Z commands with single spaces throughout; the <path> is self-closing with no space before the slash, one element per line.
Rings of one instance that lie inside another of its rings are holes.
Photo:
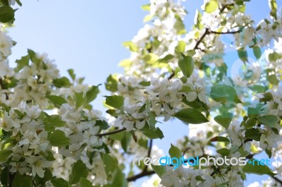
<path fill-rule="evenodd" d="M 11 165 L 11 172 L 32 173 L 42 178 L 44 169 L 51 166 L 47 158 L 52 155 L 51 145 L 40 114 L 38 105 L 28 107 L 25 102 L 3 113 L 0 127 L 4 145 L 8 146 L 5 151 L 9 153 L 7 163 Z M 12 139 L 5 138 L 7 135 Z"/>

